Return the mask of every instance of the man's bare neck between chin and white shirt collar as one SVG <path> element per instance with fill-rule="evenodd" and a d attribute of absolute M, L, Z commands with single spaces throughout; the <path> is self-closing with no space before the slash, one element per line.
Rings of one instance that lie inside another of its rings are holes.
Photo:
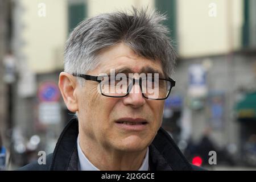
<path fill-rule="evenodd" d="M 142 166 L 147 152 L 147 148 L 136 152 L 110 150 L 109 147 L 96 145 L 96 142 L 88 142 L 81 135 L 79 145 L 90 163 L 101 171 L 137 171 Z"/>

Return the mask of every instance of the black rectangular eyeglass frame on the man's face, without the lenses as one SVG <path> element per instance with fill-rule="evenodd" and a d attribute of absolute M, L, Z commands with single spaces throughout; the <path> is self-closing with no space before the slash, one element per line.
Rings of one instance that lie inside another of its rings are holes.
<path fill-rule="evenodd" d="M 81 77 L 81 78 L 84 78 L 85 80 L 91 80 L 91 81 L 97 81 L 99 84 L 101 84 L 101 79 L 98 79 L 98 78 L 100 78 L 100 77 L 105 77 L 105 76 L 93 76 L 93 75 L 84 75 L 84 74 L 76 74 L 76 73 L 73 73 L 72 74 L 73 76 L 75 76 L 75 77 Z M 129 77 L 127 77 L 127 78 L 129 78 Z M 131 78 L 129 78 L 129 79 L 131 79 Z M 142 78 L 139 78 L 139 79 L 135 79 L 135 78 L 132 78 L 133 79 L 133 86 L 134 86 L 134 84 L 135 84 L 135 82 L 138 82 L 139 81 L 139 87 L 141 88 L 141 90 L 142 90 Z M 168 94 L 167 94 L 167 96 L 165 97 L 165 98 L 156 98 L 156 99 L 152 99 L 152 98 L 148 98 L 148 97 L 146 97 L 146 96 L 144 96 L 144 93 L 142 93 L 142 96 L 144 97 L 144 98 L 147 98 L 148 100 L 166 100 L 168 97 L 169 97 L 169 95 L 170 95 L 170 93 L 171 93 L 171 89 L 175 86 L 175 83 L 176 83 L 176 81 L 175 80 L 173 80 L 172 78 L 170 78 L 170 77 L 168 77 L 168 78 L 159 78 L 159 80 L 166 80 L 166 81 L 170 81 L 171 82 L 171 84 L 170 84 L 170 90 L 169 90 L 169 92 L 168 92 Z M 120 97 L 126 97 L 130 92 L 131 92 L 131 88 L 133 88 L 133 86 L 128 86 L 128 88 L 127 88 L 127 94 L 125 95 L 125 96 L 107 96 L 107 95 L 105 95 L 104 93 L 102 93 L 102 90 L 101 90 L 101 94 L 102 94 L 102 96 L 106 96 L 106 97 L 115 97 L 115 98 L 120 98 Z M 100 89 L 101 89 L 101 86 L 100 86 Z"/>

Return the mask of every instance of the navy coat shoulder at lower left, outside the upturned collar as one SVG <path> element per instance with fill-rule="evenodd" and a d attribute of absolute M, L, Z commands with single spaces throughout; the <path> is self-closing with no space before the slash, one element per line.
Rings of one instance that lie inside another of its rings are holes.
<path fill-rule="evenodd" d="M 39 164 L 38 160 L 27 164 L 21 168 L 18 168 L 18 171 L 49 171 L 49 167 L 51 166 L 52 162 L 52 154 L 46 156 L 46 164 Z"/>

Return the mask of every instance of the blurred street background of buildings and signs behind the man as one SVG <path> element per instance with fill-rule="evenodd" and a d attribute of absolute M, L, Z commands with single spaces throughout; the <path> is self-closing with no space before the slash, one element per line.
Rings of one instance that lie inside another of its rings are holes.
<path fill-rule="evenodd" d="M 179 57 L 163 127 L 189 162 L 256 169 L 256 1 L 0 0 L 0 170 L 51 153 L 73 117 L 57 87 L 69 33 L 131 6 L 168 16 Z"/>

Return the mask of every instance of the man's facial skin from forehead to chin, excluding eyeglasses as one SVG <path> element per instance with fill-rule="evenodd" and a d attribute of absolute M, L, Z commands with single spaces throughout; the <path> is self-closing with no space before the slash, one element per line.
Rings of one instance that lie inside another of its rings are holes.
<path fill-rule="evenodd" d="M 86 74 L 98 76 L 110 73 L 110 69 L 130 69 L 141 73 L 152 68 L 163 74 L 159 60 L 152 61 L 136 55 L 125 44 L 104 49 L 100 53 L 100 65 Z M 98 82 L 86 81 L 77 89 L 79 130 L 90 141 L 104 148 L 119 151 L 144 150 L 154 139 L 163 116 L 163 100 L 147 100 L 135 84 L 126 97 L 102 96 L 97 89 Z M 135 119 L 135 120 L 134 120 Z M 128 123 L 123 123 L 127 120 Z M 143 122 L 130 125 L 130 122 Z M 146 122 L 146 123 L 144 123 Z"/>

